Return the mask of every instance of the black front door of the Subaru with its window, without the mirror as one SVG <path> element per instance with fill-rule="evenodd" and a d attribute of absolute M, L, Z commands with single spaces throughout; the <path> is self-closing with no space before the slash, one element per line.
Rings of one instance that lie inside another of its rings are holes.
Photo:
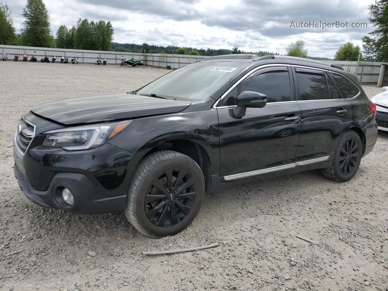
<path fill-rule="evenodd" d="M 233 108 L 237 94 L 243 91 L 267 95 L 267 104 L 263 108 L 247 108 L 245 116 L 239 119 L 234 116 Z M 224 180 L 294 166 L 301 112 L 295 101 L 289 67 L 260 69 L 225 96 L 222 105 L 228 106 L 217 110 L 221 176 Z M 243 175 L 237 177 L 237 174 Z"/>

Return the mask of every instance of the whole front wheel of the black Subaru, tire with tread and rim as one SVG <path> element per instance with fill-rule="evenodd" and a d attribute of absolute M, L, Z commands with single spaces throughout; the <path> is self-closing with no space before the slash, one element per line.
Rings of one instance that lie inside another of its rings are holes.
<path fill-rule="evenodd" d="M 168 187 L 166 172 L 171 173 L 171 187 Z M 183 180 L 180 178 L 176 185 L 175 180 L 179 176 L 183 177 Z M 187 182 L 194 182 L 194 185 L 184 188 L 183 185 Z M 152 185 L 158 183 L 158 187 L 163 187 L 164 192 Z M 166 187 L 169 188 L 167 191 Z M 172 190 L 180 188 L 184 191 L 175 198 L 176 191 L 173 193 Z M 185 191 L 188 192 L 183 194 Z M 133 173 L 126 199 L 125 216 L 133 227 L 145 236 L 154 239 L 173 236 L 194 220 L 201 208 L 204 192 L 203 173 L 192 158 L 175 151 L 154 152 L 142 159 Z M 145 201 L 146 197 L 148 203 Z M 157 205 L 161 207 L 156 208 Z M 182 206 L 186 212 L 182 210 Z M 159 211 L 156 211 L 158 209 Z M 173 209 L 175 211 L 171 211 Z M 175 212 L 175 215 L 172 212 Z"/>

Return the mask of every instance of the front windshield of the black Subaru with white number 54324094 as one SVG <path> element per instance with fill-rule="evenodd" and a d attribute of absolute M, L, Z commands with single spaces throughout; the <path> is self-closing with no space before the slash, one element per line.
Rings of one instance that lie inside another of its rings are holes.
<path fill-rule="evenodd" d="M 244 62 L 197 62 L 162 76 L 136 94 L 204 100 L 246 66 Z"/>

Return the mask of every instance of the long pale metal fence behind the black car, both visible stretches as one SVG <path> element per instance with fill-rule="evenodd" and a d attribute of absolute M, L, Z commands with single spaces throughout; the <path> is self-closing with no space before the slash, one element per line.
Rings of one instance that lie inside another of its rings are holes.
<path fill-rule="evenodd" d="M 3 46 L 1 52 L 9 54 L 9 59 L 13 59 L 15 54 L 22 56 L 35 55 L 38 61 L 45 56 L 57 57 L 57 61 L 61 56 L 78 57 L 79 62 L 86 64 L 93 64 L 100 59 L 107 59 L 107 64 L 120 64 L 122 59 L 139 59 L 146 66 L 154 66 L 166 69 L 178 69 L 187 64 L 200 61 L 204 58 L 203 55 L 177 55 L 177 54 L 142 54 L 130 52 L 107 52 L 97 50 L 74 50 L 74 49 L 50 49 L 41 47 L 19 47 L 19 46 Z M 20 57 L 19 59 L 23 59 Z M 342 66 L 345 71 L 356 74 L 362 84 L 377 84 L 381 68 L 381 62 L 348 62 L 348 61 L 324 61 L 329 64 L 338 64 Z"/>

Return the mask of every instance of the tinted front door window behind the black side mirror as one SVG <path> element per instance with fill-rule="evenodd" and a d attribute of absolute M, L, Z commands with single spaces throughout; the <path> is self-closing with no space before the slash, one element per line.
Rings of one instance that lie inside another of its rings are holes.
<path fill-rule="evenodd" d="M 288 70 L 270 69 L 259 73 L 240 85 L 240 91 L 255 91 L 267 95 L 267 102 L 291 101 Z"/>

